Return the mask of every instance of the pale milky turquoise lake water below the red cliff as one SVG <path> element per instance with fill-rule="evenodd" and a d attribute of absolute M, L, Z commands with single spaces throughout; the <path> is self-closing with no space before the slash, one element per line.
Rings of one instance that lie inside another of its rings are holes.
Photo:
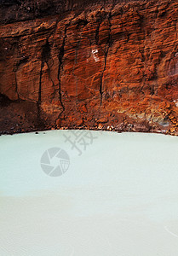
<path fill-rule="evenodd" d="M 178 255 L 178 137 L 0 137 L 0 255 Z"/>

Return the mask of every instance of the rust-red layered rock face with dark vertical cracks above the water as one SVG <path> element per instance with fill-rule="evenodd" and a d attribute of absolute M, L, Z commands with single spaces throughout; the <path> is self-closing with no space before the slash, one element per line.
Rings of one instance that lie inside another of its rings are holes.
<path fill-rule="evenodd" d="M 177 1 L 1 3 L 0 131 L 178 134 Z"/>

